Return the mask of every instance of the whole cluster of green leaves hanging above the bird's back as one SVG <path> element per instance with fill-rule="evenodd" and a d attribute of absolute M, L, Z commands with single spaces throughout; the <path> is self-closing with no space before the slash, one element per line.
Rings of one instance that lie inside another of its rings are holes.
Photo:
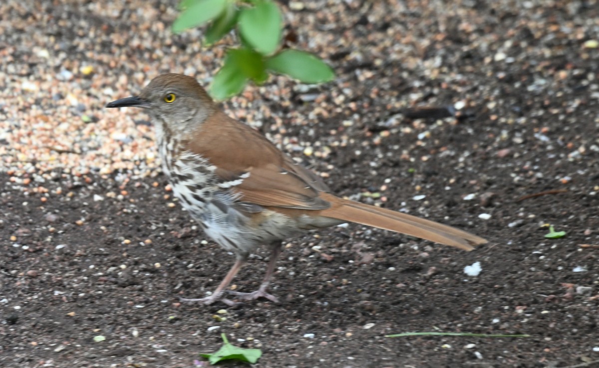
<path fill-rule="evenodd" d="M 262 85 L 270 73 L 302 83 L 323 83 L 335 77 L 325 62 L 294 49 L 281 49 L 283 14 L 272 0 L 181 0 L 174 32 L 207 25 L 205 42 L 214 44 L 235 30 L 240 46 L 229 49 L 209 92 L 216 99 L 237 95 L 250 81 Z"/>

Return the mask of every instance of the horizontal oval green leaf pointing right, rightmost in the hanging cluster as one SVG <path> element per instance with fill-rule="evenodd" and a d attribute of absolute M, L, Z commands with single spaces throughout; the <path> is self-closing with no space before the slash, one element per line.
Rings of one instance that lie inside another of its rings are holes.
<path fill-rule="evenodd" d="M 267 59 L 266 67 L 303 83 L 329 82 L 335 78 L 334 71 L 325 62 L 310 53 L 298 50 L 283 50 Z"/>

